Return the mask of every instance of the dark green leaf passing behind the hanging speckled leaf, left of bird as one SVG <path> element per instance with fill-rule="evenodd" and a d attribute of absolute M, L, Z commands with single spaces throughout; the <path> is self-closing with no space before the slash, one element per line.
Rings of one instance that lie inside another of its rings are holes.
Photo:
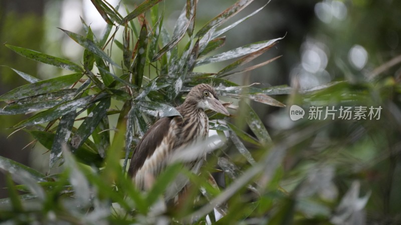
<path fill-rule="evenodd" d="M 55 138 L 54 133 L 39 130 L 31 130 L 28 132 L 31 133 L 31 135 L 34 136 L 35 139 L 37 139 L 44 147 L 49 150 L 52 149 L 52 144 Z M 80 147 L 79 149 L 73 151 L 73 153 L 78 160 L 85 164 L 102 166 L 102 157 L 100 157 L 100 155 L 94 151 L 86 148 L 86 146 Z"/>

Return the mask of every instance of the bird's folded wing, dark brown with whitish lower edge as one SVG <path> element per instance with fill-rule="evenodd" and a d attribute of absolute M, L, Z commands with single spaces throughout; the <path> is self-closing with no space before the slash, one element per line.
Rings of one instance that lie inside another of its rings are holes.
<path fill-rule="evenodd" d="M 152 172 L 154 173 L 153 175 L 157 175 L 156 173 L 158 173 L 161 170 L 161 168 L 157 167 L 164 166 L 163 160 L 159 160 L 158 161 L 159 163 L 154 164 L 153 162 L 149 161 L 149 159 L 157 156 L 154 155 L 154 153 L 155 151 L 156 153 L 159 152 L 160 147 L 168 147 L 165 145 L 164 143 L 165 140 L 163 141 L 163 139 L 165 139 L 167 135 L 171 135 L 171 132 L 169 132 L 169 129 L 172 128 L 170 123 L 175 123 L 176 120 L 173 118 L 174 118 L 173 116 L 160 118 L 147 130 L 145 135 L 143 135 L 142 139 L 136 145 L 135 151 L 131 158 L 131 163 L 128 169 L 128 174 L 130 176 L 135 177 L 138 170 L 140 170 L 144 166 L 152 166 L 152 168 L 148 170 L 153 171 Z M 172 141 L 171 142 L 172 144 L 174 144 L 175 139 L 176 139 L 175 137 L 170 139 L 170 141 Z M 172 146 L 170 144 L 168 145 Z M 158 154 L 160 153 L 162 152 L 159 152 Z"/>

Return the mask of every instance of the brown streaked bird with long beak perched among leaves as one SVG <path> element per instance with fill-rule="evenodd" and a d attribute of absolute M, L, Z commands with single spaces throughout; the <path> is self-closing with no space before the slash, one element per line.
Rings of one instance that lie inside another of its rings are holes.
<path fill-rule="evenodd" d="M 188 148 L 197 150 L 196 146 L 206 140 L 209 135 L 209 118 L 205 110 L 230 115 L 219 101 L 215 89 L 205 83 L 192 87 L 183 103 L 175 108 L 181 115 L 158 119 L 134 149 L 128 175 L 139 189 L 149 188 L 146 181 L 149 176 L 156 178 L 167 165 L 174 162 L 173 157 L 177 153 Z M 196 174 L 205 157 L 206 153 L 199 152 L 183 164 Z M 177 196 L 188 181 L 188 178 L 179 174 L 165 190 L 164 199 Z"/>

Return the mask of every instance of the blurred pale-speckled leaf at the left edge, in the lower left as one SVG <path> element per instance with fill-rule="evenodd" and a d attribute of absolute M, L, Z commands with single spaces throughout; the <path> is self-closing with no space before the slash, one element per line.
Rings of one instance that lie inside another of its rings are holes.
<path fill-rule="evenodd" d="M 37 181 L 45 181 L 43 178 L 46 176 L 45 174 L 3 156 L 0 156 L 0 169 L 10 172 L 13 176 L 18 175 L 21 172 L 27 172 Z"/>

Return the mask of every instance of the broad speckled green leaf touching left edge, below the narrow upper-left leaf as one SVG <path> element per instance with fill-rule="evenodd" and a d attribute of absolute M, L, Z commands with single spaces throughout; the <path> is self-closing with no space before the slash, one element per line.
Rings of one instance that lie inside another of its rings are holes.
<path fill-rule="evenodd" d="M 0 96 L 1 101 L 16 100 L 28 96 L 48 93 L 70 86 L 82 77 L 82 73 L 73 73 L 51 79 L 42 80 L 36 83 L 29 83 L 17 87 Z"/>

